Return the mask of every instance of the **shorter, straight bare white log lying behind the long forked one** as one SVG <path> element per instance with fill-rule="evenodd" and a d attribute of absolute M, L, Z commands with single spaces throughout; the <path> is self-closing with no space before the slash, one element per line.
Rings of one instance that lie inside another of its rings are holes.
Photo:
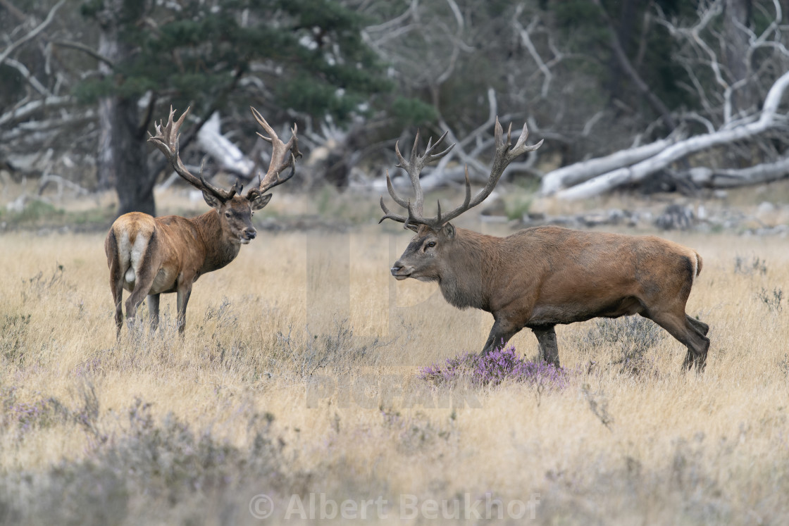
<path fill-rule="evenodd" d="M 676 139 L 670 136 L 666 139 L 656 140 L 653 143 L 643 146 L 615 151 L 611 155 L 606 155 L 605 157 L 562 166 L 561 168 L 545 174 L 542 179 L 540 192 L 542 192 L 544 196 L 552 196 L 564 188 L 589 181 L 589 179 L 597 177 L 601 173 L 608 173 L 611 170 L 616 170 L 623 166 L 630 166 L 644 159 L 649 159 L 653 157 L 653 155 L 659 154 L 660 151 L 664 151 L 664 149 L 675 142 Z"/>

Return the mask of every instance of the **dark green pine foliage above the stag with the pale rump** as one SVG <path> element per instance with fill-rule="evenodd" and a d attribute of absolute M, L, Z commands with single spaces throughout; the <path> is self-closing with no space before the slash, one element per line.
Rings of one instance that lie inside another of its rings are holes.
<path fill-rule="evenodd" d="M 113 76 L 77 86 L 80 101 L 134 99 L 151 91 L 176 106 L 207 107 L 233 90 L 243 73 L 267 84 L 275 106 L 343 121 L 361 103 L 391 91 L 383 65 L 361 40 L 365 20 L 342 2 L 217 0 L 182 2 L 178 10 L 148 6 L 142 13 L 143 5 L 123 2 L 114 13 L 123 21 L 122 45 L 131 52 L 115 64 Z M 97 21 L 106 10 L 95 0 L 82 6 L 84 16 Z M 158 24 L 141 23 L 143 17 Z M 266 67 L 251 73 L 252 62 Z"/>

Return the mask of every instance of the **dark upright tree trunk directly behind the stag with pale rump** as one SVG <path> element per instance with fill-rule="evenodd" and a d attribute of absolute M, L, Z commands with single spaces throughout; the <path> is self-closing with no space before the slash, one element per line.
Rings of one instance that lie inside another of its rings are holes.
<path fill-rule="evenodd" d="M 128 60 L 135 44 L 124 39 L 124 27 L 139 21 L 148 9 L 145 0 L 106 0 L 99 15 L 101 35 L 99 53 L 114 64 Z M 109 66 L 99 66 L 116 82 L 123 79 Z M 99 100 L 99 185 L 115 187 L 118 192 L 118 215 L 144 212 L 155 215 L 153 197 L 155 173 L 146 161 L 145 135 L 141 129 L 136 97 L 110 95 Z"/>

